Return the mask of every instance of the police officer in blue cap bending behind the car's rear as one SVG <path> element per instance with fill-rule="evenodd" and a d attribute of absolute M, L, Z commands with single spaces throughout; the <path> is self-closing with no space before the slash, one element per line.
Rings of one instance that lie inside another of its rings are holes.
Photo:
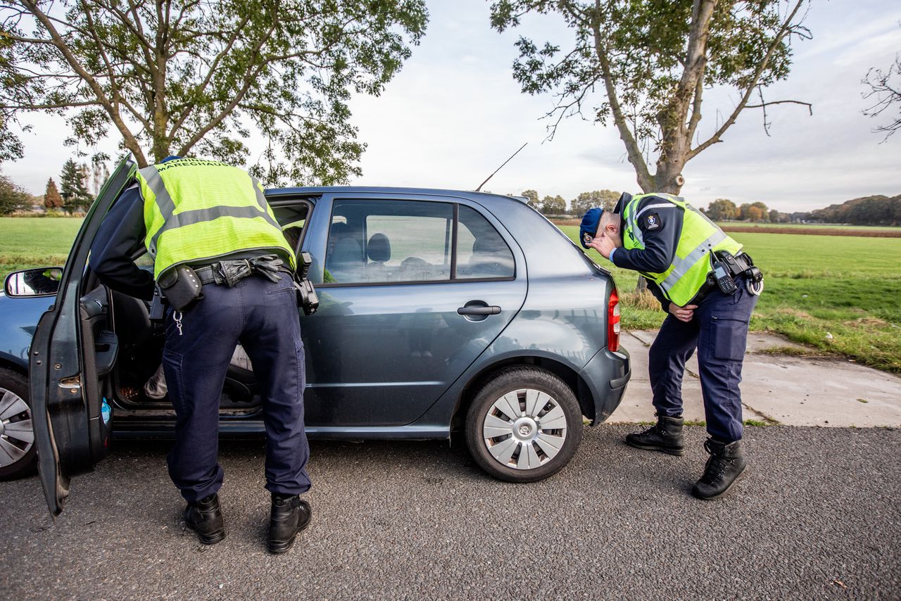
<path fill-rule="evenodd" d="M 678 196 L 623 194 L 613 212 L 590 209 L 582 245 L 634 269 L 668 313 L 651 345 L 657 423 L 626 442 L 638 449 L 684 452 L 682 378 L 697 349 L 710 454 L 692 492 L 723 495 L 742 476 L 742 360 L 762 274 L 742 245 Z"/>

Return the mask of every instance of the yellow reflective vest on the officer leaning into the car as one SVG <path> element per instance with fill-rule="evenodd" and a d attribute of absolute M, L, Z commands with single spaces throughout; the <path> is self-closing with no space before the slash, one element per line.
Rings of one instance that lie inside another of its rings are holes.
<path fill-rule="evenodd" d="M 216 161 L 176 159 L 139 169 L 138 181 L 155 278 L 180 263 L 241 250 L 278 252 L 295 269 L 294 251 L 262 187 L 246 171 Z"/>

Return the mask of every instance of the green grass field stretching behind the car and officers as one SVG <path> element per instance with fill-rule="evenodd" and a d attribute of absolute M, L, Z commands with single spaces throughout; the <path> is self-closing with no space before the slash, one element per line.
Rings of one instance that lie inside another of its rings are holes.
<path fill-rule="evenodd" d="M 81 223 L 80 218 L 0 218 L 0 278 L 15 269 L 62 265 Z M 576 240 L 578 226 L 560 229 Z M 901 373 L 901 239 L 733 235 L 766 276 L 751 329 L 783 333 Z M 615 268 L 594 250 L 590 256 L 614 274 L 623 296 L 623 327 L 660 327 L 665 315 L 657 301 L 630 294 L 635 272 Z"/>

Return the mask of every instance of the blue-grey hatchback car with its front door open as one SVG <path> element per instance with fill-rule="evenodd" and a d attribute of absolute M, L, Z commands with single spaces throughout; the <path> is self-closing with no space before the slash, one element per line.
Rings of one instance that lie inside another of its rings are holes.
<path fill-rule="evenodd" d="M 141 386 L 159 366 L 162 332 L 86 263 L 134 168 L 124 160 L 106 183 L 65 269 L 16 272 L 0 298 L 0 396 L 14 424 L 0 438 L 16 448 L 0 453 L 0 469 L 22 473 L 37 451 L 54 513 L 68 478 L 93 469 L 111 436 L 173 433 L 168 400 Z M 266 196 L 287 240 L 313 258 L 320 307 L 298 313 L 311 438 L 464 433 L 488 473 L 531 482 L 566 466 L 583 423 L 619 405 L 630 361 L 614 280 L 523 198 L 392 187 Z M 40 302 L 52 305 L 35 331 Z M 263 433 L 249 367 L 233 361 L 223 436 Z"/>

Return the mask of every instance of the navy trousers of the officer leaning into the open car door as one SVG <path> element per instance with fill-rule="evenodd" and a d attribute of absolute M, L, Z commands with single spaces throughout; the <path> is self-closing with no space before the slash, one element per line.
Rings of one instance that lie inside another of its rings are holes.
<path fill-rule="evenodd" d="M 304 430 L 304 345 L 295 287 L 252 275 L 235 287 L 204 285 L 204 298 L 166 316 L 163 369 L 176 412 L 176 443 L 169 477 L 188 503 L 214 494 L 223 483 L 219 465 L 219 398 L 238 342 L 259 382 L 266 426 L 266 487 L 299 495 L 310 488 Z"/>

